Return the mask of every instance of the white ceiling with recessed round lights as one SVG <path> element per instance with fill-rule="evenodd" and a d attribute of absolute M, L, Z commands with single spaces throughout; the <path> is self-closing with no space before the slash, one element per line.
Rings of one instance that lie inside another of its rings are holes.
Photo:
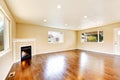
<path fill-rule="evenodd" d="M 80 30 L 120 22 L 120 0 L 6 0 L 6 3 L 17 23 Z"/>

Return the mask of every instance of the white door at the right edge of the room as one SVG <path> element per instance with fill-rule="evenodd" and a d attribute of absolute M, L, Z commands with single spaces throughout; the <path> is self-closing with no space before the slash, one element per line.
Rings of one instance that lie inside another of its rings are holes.
<path fill-rule="evenodd" d="M 120 55 L 120 28 L 114 29 L 114 53 Z"/>

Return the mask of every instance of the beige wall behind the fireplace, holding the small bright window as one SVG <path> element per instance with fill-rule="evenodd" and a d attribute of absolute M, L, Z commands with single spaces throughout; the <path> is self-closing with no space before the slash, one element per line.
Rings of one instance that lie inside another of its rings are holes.
<path fill-rule="evenodd" d="M 48 43 L 48 31 L 64 32 L 64 43 Z M 62 30 L 35 25 L 17 24 L 17 38 L 35 38 L 37 54 L 71 50 L 76 48 L 76 32 L 72 30 Z"/>

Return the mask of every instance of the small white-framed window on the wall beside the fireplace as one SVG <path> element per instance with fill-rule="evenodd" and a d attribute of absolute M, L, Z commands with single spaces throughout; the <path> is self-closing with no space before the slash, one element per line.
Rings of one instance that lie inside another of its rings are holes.
<path fill-rule="evenodd" d="M 49 43 L 63 43 L 63 32 L 48 32 L 48 42 Z"/>

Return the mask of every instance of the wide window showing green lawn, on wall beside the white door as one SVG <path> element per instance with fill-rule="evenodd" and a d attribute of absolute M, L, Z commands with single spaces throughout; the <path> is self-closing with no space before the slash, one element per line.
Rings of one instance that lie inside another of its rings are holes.
<path fill-rule="evenodd" d="M 103 42 L 103 31 L 85 32 L 81 36 L 82 42 Z"/>

